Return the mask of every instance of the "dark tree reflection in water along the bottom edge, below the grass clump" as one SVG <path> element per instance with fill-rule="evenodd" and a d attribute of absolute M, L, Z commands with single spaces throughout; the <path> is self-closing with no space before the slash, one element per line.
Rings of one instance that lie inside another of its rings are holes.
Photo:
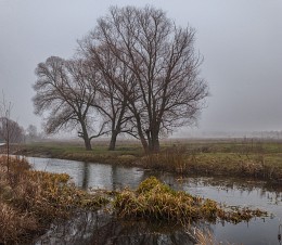
<path fill-rule="evenodd" d="M 79 212 L 72 219 L 52 224 L 36 245 L 91 244 L 91 245 L 170 245 L 194 244 L 181 228 L 123 222 L 103 212 Z"/>

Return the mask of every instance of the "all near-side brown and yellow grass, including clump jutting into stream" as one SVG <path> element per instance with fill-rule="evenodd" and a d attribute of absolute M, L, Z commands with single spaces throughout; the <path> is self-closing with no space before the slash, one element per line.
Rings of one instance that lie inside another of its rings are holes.
<path fill-rule="evenodd" d="M 74 210 L 95 209 L 107 202 L 110 202 L 110 206 L 106 206 L 106 212 L 118 217 L 118 220 L 168 221 L 174 225 L 184 227 L 198 219 L 215 222 L 219 218 L 222 221 L 236 223 L 249 220 L 253 216 L 265 215 L 258 209 L 253 211 L 233 209 L 233 205 L 232 209 L 229 209 L 228 206 L 221 206 L 211 199 L 192 196 L 189 194 L 189 190 L 187 192 L 175 191 L 156 178 L 145 179 L 137 189 L 111 193 L 100 192 L 102 196 L 98 198 L 95 195 L 77 190 L 74 185 L 66 184 L 69 177 L 65 173 L 54 175 L 30 170 L 28 164 L 23 159 L 10 163 L 11 171 L 9 175 L 7 171 L 1 172 L 0 182 L 0 199 L 3 207 L 0 209 L 0 215 L 5 224 L 2 227 L 0 223 L 0 229 L 3 229 L 0 231 L 0 235 L 8 235 L 5 244 L 9 244 L 9 241 L 12 241 L 11 244 L 23 244 L 23 241 L 33 235 L 37 236 L 52 220 L 68 220 Z M 5 165 L 5 162 L 0 165 L 3 170 Z M 111 194 L 110 199 L 105 198 L 106 193 Z M 11 211 L 7 214 L 7 210 Z M 111 211 L 108 212 L 108 210 Z M 30 219 L 28 219 L 29 217 Z M 18 233 L 20 231 L 21 233 Z M 17 236 L 13 236 L 14 238 L 11 240 L 11 234 Z"/>

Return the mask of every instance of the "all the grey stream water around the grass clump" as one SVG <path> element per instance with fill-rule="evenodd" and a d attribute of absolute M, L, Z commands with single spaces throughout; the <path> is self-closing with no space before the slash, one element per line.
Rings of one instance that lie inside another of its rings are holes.
<path fill-rule="evenodd" d="M 134 189 L 150 176 L 156 176 L 176 190 L 211 198 L 229 206 L 259 208 L 269 217 L 255 218 L 248 222 L 201 223 L 222 244 L 281 244 L 278 240 L 279 227 L 282 232 L 282 186 L 269 185 L 264 181 L 211 177 L 184 177 L 166 172 L 154 172 L 137 167 L 90 164 L 75 160 L 29 157 L 37 170 L 66 172 L 74 183 L 82 189 L 120 190 Z M 281 224 L 281 225 L 280 225 Z M 190 230 L 193 232 L 193 229 Z M 149 225 L 143 222 L 125 222 L 105 215 L 104 211 L 79 212 L 64 223 L 53 223 L 39 237 L 41 244 L 194 244 L 188 232 L 178 227 L 165 224 Z"/>

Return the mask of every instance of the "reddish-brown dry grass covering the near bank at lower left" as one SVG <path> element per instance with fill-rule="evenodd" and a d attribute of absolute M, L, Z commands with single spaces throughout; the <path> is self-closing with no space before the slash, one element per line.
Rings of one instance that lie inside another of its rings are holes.
<path fill-rule="evenodd" d="M 30 170 L 25 159 L 11 158 L 7 171 L 0 157 L 0 244 L 23 243 L 77 208 L 98 209 L 108 203 L 69 184 L 65 173 Z"/>

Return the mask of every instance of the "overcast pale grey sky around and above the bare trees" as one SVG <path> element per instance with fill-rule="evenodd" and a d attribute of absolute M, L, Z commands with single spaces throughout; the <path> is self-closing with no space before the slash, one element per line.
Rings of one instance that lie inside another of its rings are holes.
<path fill-rule="evenodd" d="M 37 64 L 70 57 L 110 5 L 128 4 L 161 8 L 196 29 L 210 88 L 198 130 L 282 130 L 282 0 L 0 0 L 0 89 L 13 119 L 40 126 L 31 103 Z"/>

